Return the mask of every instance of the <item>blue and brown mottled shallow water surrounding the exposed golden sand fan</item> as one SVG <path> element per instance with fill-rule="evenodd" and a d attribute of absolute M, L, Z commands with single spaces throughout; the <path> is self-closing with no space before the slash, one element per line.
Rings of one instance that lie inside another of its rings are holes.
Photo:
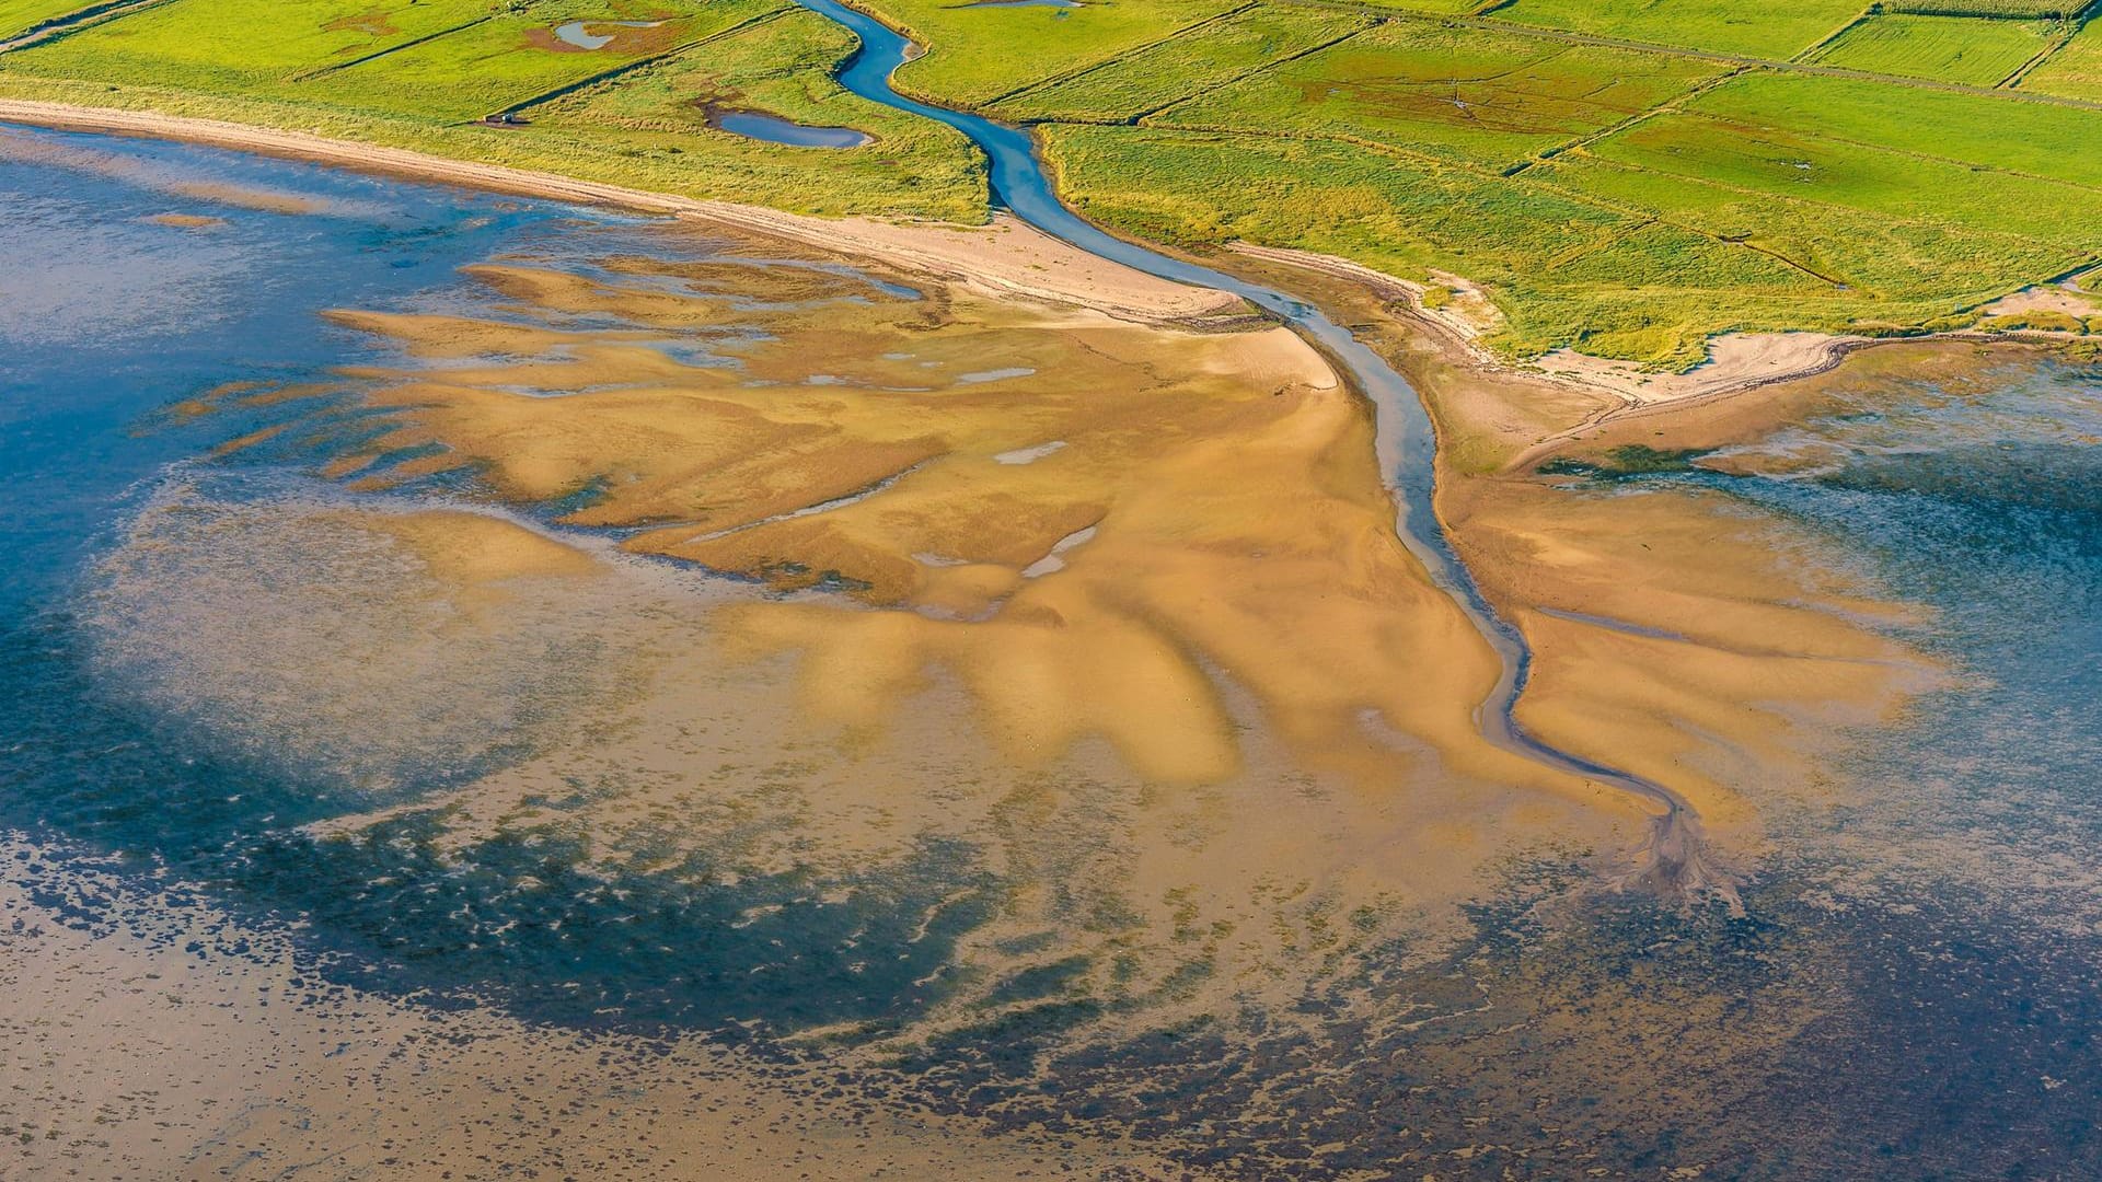
<path fill-rule="evenodd" d="M 1356 906 L 1356 879 L 1457 839 L 1368 837 L 1394 812 L 1373 793 L 1280 772 L 1289 759 L 1259 768 L 1291 789 L 1276 795 L 1131 784 L 1108 757 L 1083 759 L 1089 774 L 1003 774 L 952 757 L 969 715 L 952 686 L 906 713 L 906 757 L 856 761 L 851 742 L 790 726 L 799 700 L 778 669 L 679 648 L 717 604 L 776 604 L 761 587 L 624 559 L 616 530 L 549 524 L 574 505 L 507 507 L 469 475 L 385 492 L 313 475 L 374 429 L 343 393 L 368 379 L 338 368 L 406 364 L 324 309 L 528 322 L 523 301 L 458 276 L 492 261 L 656 294 L 702 282 L 614 265 L 645 257 L 723 265 L 694 273 L 767 315 L 805 301 L 807 261 L 210 149 L 8 135 L 130 164 L 0 154 L 0 200 L 19 210 L 0 223 L 0 829 L 25 835 L 8 877 L 40 923 L 101 932 L 177 890 L 221 938 L 170 955 L 233 955 L 221 946 L 256 932 L 296 972 L 370 997 L 557 1031 L 704 1031 L 813 1058 L 847 1092 L 1135 1138 L 1221 1176 L 2102 1165 L 2094 370 L 1862 379 L 1850 408 L 1705 461 L 1734 475 L 1570 482 L 1602 515 L 1629 496 L 1724 496 L 1801 541 L 1804 562 L 1850 555 L 1888 597 L 1934 610 L 1902 631 L 1959 679 L 1820 759 L 1848 791 L 1776 793 L 1749 917 L 1600 898 L 1595 850 L 1526 843 L 1499 818 L 1484 829 L 1509 848 L 1461 936 L 1438 942 L 1408 936 L 1427 919 Z M 179 198 L 168 177 L 320 212 Z M 214 221 L 145 221 L 164 212 Z M 637 328 L 620 311 L 557 320 Z M 681 366 L 753 355 L 727 332 L 643 347 Z M 269 398 L 307 385 L 311 398 Z M 1043 440 L 988 467 L 1040 473 L 1085 454 Z M 374 507 L 496 513 L 589 543 L 624 574 L 427 595 L 410 553 L 355 515 Z M 1047 562 L 1083 566 L 1108 536 L 1091 530 Z M 706 707 L 677 726 L 626 713 L 650 698 L 635 671 L 666 652 L 679 686 L 729 692 L 675 698 Z M 1263 734 L 1259 713 L 1236 719 Z M 591 755 L 620 749 L 622 730 L 662 757 Z M 1438 776 L 1406 784 L 1417 803 L 1436 791 Z M 1204 911 L 1215 900 L 1173 875 L 1129 881 L 1158 869 L 1156 850 L 1186 850 L 1202 873 L 1318 864 L 1320 881 L 1198 877 L 1232 881 L 1244 909 Z M 1141 888 L 1200 919 L 1135 951 L 1146 928 L 1131 911 L 1160 902 Z M 1322 909 L 1324 890 L 1349 904 Z M 1057 921 L 1013 923 L 1024 902 Z M 1263 949 L 1278 976 L 1215 989 L 1230 963 L 1204 955 L 1215 923 L 1284 930 Z M 1097 989 L 1095 970 L 1141 986 Z M 25 1121 L 15 1102 L 0 1098 L 11 1125 Z"/>

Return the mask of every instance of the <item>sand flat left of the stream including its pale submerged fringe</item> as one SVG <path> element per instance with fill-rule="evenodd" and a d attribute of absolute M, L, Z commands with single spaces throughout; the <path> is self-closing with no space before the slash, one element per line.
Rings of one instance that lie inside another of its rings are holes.
<path fill-rule="evenodd" d="M 1495 656 L 1396 541 L 1368 408 L 1289 332 L 811 269 L 473 276 L 488 311 L 336 318 L 404 355 L 345 374 L 385 433 L 315 458 L 370 513 L 147 515 L 105 616 L 132 681 L 254 751 L 376 782 L 521 753 L 315 837 L 420 812 L 446 856 L 559 824 L 605 875 L 841 883 L 956 843 L 1001 904 L 914 1033 L 1028 972 L 1106 1026 L 1291 1020 L 1396 942 L 1436 955 L 1509 858 L 1640 839 L 1625 797 L 1478 736 Z M 448 471 L 568 513 L 401 513 Z"/>

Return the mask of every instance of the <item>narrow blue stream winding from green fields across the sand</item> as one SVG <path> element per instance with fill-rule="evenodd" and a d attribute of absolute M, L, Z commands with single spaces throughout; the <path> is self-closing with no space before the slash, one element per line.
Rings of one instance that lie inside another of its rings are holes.
<path fill-rule="evenodd" d="M 1122 263 L 1137 271 L 1234 292 L 1284 320 L 1312 341 L 1316 349 L 1337 362 L 1349 374 L 1352 383 L 1371 398 L 1377 410 L 1379 463 L 1387 486 L 1394 490 L 1396 534 L 1400 534 L 1402 545 L 1417 555 L 1417 562 L 1423 564 L 1431 580 L 1459 604 L 1482 633 L 1482 639 L 1503 660 L 1503 677 L 1499 677 L 1488 700 L 1476 709 L 1476 721 L 1484 738 L 1526 759 L 1663 806 L 1663 812 L 1652 822 L 1650 841 L 1642 850 L 1648 856 L 1648 864 L 1629 877 L 1631 885 L 1648 885 L 1679 898 L 1690 898 L 1703 890 L 1717 890 L 1726 896 L 1734 894 L 1728 881 L 1707 867 L 1701 822 L 1677 793 L 1619 768 L 1593 763 L 1591 759 L 1562 751 L 1520 726 L 1516 709 L 1532 673 L 1532 650 L 1526 646 L 1526 637 L 1499 616 L 1482 595 L 1474 574 L 1459 559 L 1459 553 L 1444 534 L 1444 526 L 1438 522 L 1434 507 L 1438 437 L 1429 412 L 1417 398 L 1415 387 L 1408 385 L 1408 379 L 1352 337 L 1347 328 L 1301 299 L 1198 263 L 1171 259 L 1095 227 L 1057 200 L 1051 179 L 1036 158 L 1036 143 L 1030 139 L 1030 133 L 982 116 L 919 103 L 891 88 L 891 74 L 912 57 L 914 46 L 908 38 L 866 13 L 847 8 L 839 0 L 797 2 L 845 25 L 862 40 L 862 48 L 839 72 L 841 86 L 874 103 L 948 124 L 971 137 L 992 162 L 992 200 L 1017 219 L 1089 254 Z"/>

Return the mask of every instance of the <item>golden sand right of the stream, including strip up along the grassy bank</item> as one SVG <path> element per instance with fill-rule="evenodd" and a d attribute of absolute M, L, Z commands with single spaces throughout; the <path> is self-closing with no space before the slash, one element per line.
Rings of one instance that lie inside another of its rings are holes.
<path fill-rule="evenodd" d="M 1440 431 L 1440 517 L 1534 650 L 1520 721 L 1686 797 L 1726 862 L 1751 858 L 1770 795 L 1839 791 L 1816 766 L 1837 728 L 1888 721 L 1946 679 L 1902 641 L 1917 610 L 1833 574 L 1839 555 L 1799 528 L 1722 494 L 1564 488 L 1534 469 L 1572 448 L 1753 440 L 1833 406 L 1831 391 L 1862 374 L 1904 372 L 1925 353 L 1949 372 L 1978 345 L 1890 345 L 1839 366 L 1806 355 L 1801 368 L 1822 372 L 1623 414 L 1625 391 L 1482 366 L 1463 334 L 1425 332 L 1392 282 L 1268 254 L 1242 267 L 1278 263 L 1291 263 L 1280 282 L 1341 309 L 1425 393 Z M 1719 374 L 1726 387 L 1778 372 L 1757 349 L 1738 360 Z"/>

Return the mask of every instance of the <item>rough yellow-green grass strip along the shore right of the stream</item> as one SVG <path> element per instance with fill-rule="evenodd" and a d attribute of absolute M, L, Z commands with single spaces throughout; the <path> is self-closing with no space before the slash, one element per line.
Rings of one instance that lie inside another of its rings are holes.
<path fill-rule="evenodd" d="M 1713 324 L 1848 311 L 1806 307 L 1831 284 L 1757 250 L 1545 185 L 1320 141 L 1070 126 L 1049 145 L 1087 215 L 1156 240 L 1244 238 L 1490 284 L 1511 318 L 1497 345 L 1511 355 L 1583 345 L 1686 364 Z M 1219 168 L 1223 156 L 1236 160 L 1232 172 Z"/>

